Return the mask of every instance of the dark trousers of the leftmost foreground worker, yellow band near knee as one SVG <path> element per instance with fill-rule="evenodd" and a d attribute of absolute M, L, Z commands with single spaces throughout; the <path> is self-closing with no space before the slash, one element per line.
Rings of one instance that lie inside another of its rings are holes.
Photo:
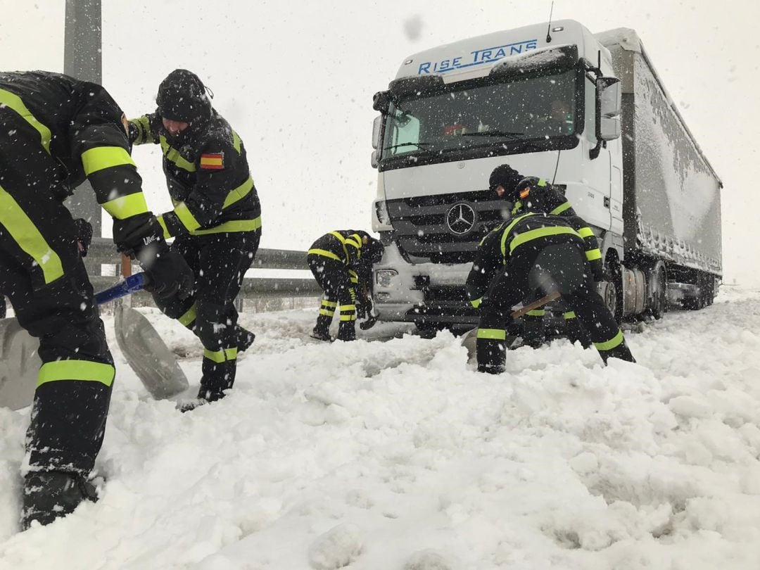
<path fill-rule="evenodd" d="M 81 260 L 63 277 L 33 287 L 24 263 L 8 251 L 15 249 L 11 240 L 0 225 L 0 294 L 40 339 L 43 362 L 27 432 L 30 470 L 87 475 L 103 442 L 114 378 L 93 287 Z"/>

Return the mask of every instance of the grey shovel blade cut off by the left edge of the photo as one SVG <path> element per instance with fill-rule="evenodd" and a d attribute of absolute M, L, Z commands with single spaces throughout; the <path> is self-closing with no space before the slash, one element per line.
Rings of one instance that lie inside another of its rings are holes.
<path fill-rule="evenodd" d="M 15 318 L 0 319 L 0 406 L 21 410 L 32 405 L 42 366 L 39 347 Z"/>

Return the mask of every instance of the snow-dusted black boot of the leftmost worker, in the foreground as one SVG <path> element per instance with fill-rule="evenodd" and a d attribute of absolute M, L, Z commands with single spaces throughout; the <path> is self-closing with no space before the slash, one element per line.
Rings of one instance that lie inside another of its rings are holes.
<path fill-rule="evenodd" d="M 64 471 L 33 471 L 24 477 L 21 529 L 27 530 L 32 521 L 50 524 L 65 517 L 84 500 L 96 502 L 97 492 L 92 483 L 79 473 Z"/>

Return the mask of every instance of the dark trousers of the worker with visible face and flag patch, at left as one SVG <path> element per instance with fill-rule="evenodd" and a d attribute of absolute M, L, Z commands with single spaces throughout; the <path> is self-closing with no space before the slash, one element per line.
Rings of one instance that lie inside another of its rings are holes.
<path fill-rule="evenodd" d="M 237 369 L 235 299 L 245 271 L 251 267 L 261 232 L 179 236 L 172 249 L 179 252 L 195 274 L 195 287 L 187 299 L 160 299 L 156 305 L 192 330 L 204 347 L 198 397 L 217 400 L 232 388 Z"/>

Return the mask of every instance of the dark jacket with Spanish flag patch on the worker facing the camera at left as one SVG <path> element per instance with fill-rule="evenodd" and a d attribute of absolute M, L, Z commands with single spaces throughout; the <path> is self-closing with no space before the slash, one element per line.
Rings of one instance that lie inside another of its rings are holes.
<path fill-rule="evenodd" d="M 174 209 L 159 217 L 164 237 L 255 231 L 261 204 L 245 147 L 216 111 L 173 139 L 157 113 L 129 122 L 135 144 L 160 144 L 163 173 Z"/>

